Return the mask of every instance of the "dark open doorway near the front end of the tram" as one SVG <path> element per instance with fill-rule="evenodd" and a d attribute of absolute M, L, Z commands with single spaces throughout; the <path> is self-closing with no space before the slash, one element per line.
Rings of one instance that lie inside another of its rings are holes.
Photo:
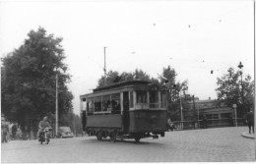
<path fill-rule="evenodd" d="M 124 132 L 127 132 L 130 125 L 130 115 L 129 115 L 129 92 L 123 92 L 123 126 Z"/>

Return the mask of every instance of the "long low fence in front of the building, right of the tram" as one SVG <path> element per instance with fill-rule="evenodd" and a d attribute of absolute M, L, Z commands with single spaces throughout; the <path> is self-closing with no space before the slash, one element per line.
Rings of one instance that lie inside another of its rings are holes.
<path fill-rule="evenodd" d="M 234 127 L 235 119 L 209 119 L 198 121 L 176 121 L 173 122 L 176 130 L 193 130 L 204 128 Z M 237 126 L 245 126 L 243 118 L 237 118 Z"/>

